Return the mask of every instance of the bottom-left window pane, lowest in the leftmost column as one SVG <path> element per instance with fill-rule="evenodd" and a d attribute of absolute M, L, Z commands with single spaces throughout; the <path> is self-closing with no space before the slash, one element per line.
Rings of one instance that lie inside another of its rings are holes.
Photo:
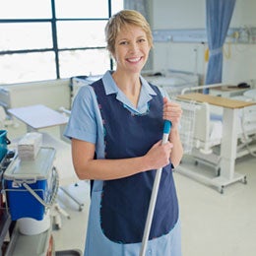
<path fill-rule="evenodd" d="M 56 78 L 53 52 L 0 56 L 0 83 L 21 83 Z"/>

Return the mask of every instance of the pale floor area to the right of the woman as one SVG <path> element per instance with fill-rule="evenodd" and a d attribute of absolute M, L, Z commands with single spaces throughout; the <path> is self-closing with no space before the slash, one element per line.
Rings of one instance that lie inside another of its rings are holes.
<path fill-rule="evenodd" d="M 247 184 L 216 189 L 176 173 L 184 256 L 256 255 L 256 158 L 238 160 Z"/>

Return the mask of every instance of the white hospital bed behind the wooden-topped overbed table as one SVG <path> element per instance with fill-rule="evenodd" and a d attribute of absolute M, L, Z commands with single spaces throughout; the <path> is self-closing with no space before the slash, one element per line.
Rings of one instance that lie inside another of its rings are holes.
<path fill-rule="evenodd" d="M 182 94 L 197 91 L 198 88 L 214 88 L 217 86 L 220 87 L 220 85 L 195 87 L 189 89 L 189 91 L 183 91 Z M 256 89 L 249 89 L 242 95 L 232 96 L 230 99 L 256 103 Z M 183 105 L 183 108 L 187 107 L 187 103 L 185 103 L 184 100 L 180 100 L 180 103 Z M 196 127 L 193 135 L 194 147 L 200 149 L 200 152 L 203 154 L 208 155 L 213 152 L 214 147 L 222 143 L 224 106 L 217 106 L 208 102 L 195 102 L 192 100 L 189 106 L 192 110 L 192 103 L 196 106 Z M 239 109 L 237 121 L 238 141 L 236 158 L 240 158 L 255 151 L 254 147 L 250 150 L 247 146 L 256 140 L 256 105 L 252 104 Z"/>

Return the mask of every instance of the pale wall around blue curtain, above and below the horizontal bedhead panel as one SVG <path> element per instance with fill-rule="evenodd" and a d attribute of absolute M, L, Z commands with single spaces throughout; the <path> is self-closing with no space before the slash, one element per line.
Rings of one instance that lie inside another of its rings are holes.
<path fill-rule="evenodd" d="M 153 30 L 205 29 L 205 0 L 152 0 Z M 256 27 L 256 1 L 236 0 L 229 28 Z M 175 69 L 199 73 L 205 78 L 206 44 L 156 42 L 153 49 L 154 69 Z M 227 58 L 227 53 L 230 56 Z M 236 84 L 255 79 L 256 44 L 224 45 L 223 82 Z"/>

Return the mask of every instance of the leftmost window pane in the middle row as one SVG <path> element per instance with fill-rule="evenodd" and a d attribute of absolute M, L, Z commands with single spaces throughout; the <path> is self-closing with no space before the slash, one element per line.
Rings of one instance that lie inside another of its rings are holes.
<path fill-rule="evenodd" d="M 0 24 L 0 51 L 52 48 L 50 24 Z"/>

